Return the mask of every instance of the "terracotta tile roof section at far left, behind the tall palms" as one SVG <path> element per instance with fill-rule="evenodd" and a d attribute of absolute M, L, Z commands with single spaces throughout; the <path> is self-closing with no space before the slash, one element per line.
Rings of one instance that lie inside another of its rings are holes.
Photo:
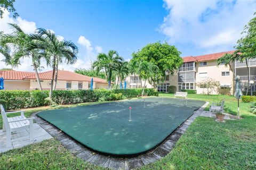
<path fill-rule="evenodd" d="M 5 70 L 0 71 L 0 77 L 3 77 L 5 80 L 23 80 L 24 77 L 34 75 L 33 72 L 24 72 L 24 71 L 14 71 L 14 70 Z"/>

